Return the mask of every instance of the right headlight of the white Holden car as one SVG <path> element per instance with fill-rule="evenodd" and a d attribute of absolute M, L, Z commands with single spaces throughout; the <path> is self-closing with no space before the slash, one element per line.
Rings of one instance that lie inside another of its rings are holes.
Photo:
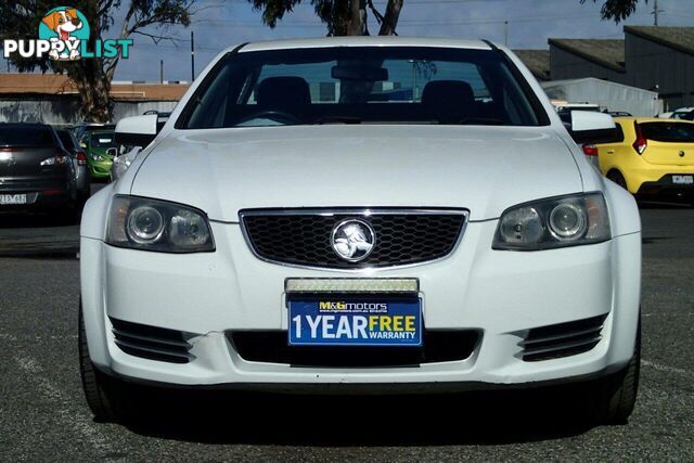
<path fill-rule="evenodd" d="M 601 243 L 611 239 L 602 193 L 551 197 L 506 209 L 499 219 L 494 249 L 538 250 Z"/>

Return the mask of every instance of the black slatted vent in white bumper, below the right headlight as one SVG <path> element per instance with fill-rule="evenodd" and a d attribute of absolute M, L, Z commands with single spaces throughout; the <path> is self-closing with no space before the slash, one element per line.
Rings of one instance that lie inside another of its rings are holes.
<path fill-rule="evenodd" d="M 536 362 L 591 350 L 602 339 L 601 332 L 606 317 L 604 314 L 529 330 L 525 339 L 519 343 L 524 349 L 523 360 Z"/>

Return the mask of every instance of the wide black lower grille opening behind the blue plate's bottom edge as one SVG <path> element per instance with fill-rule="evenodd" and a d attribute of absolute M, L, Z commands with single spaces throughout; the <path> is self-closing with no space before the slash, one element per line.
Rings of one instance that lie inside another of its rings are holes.
<path fill-rule="evenodd" d="M 304 368 L 387 368 L 467 359 L 480 340 L 477 330 L 426 330 L 422 347 L 288 346 L 286 331 L 227 332 L 242 359 Z"/>

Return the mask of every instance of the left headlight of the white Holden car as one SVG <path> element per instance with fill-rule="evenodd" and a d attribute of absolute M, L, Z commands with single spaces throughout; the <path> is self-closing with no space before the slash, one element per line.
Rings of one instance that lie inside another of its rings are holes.
<path fill-rule="evenodd" d="M 136 196 L 113 198 L 106 243 L 160 253 L 215 250 L 209 222 L 202 210 Z"/>

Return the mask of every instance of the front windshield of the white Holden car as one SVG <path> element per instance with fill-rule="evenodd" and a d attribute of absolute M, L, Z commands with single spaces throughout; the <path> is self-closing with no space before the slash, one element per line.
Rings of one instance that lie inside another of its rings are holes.
<path fill-rule="evenodd" d="M 454 48 L 229 54 L 191 98 L 177 128 L 547 124 L 537 99 L 510 66 L 499 51 Z"/>

